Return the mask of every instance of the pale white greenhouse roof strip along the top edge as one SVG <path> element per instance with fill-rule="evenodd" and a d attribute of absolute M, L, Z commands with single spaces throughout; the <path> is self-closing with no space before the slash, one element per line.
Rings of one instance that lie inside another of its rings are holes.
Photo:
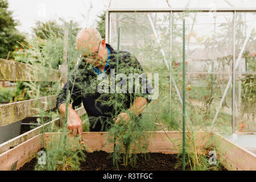
<path fill-rule="evenodd" d="M 255 0 L 111 0 L 109 11 L 256 10 Z"/>

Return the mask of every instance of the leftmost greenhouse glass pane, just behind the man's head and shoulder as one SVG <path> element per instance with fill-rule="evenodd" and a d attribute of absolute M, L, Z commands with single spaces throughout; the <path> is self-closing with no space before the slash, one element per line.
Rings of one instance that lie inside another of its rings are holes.
<path fill-rule="evenodd" d="M 146 73 L 152 77 L 155 74 L 159 76 L 159 97 L 151 101 L 144 116 L 162 122 L 163 128 L 159 126 L 158 130 L 181 129 L 179 100 L 170 115 L 170 13 L 110 13 L 109 17 L 109 43 L 117 48 L 117 30 L 120 27 L 120 49 L 137 57 Z"/>

